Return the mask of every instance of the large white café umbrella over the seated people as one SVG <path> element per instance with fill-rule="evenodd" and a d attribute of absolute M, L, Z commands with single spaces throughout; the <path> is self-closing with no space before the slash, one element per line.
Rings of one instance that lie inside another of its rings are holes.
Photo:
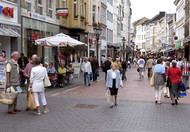
<path fill-rule="evenodd" d="M 52 37 L 38 39 L 35 41 L 37 45 L 51 46 L 51 47 L 65 47 L 67 45 L 75 47 L 78 45 L 86 45 L 76 39 L 71 38 L 63 33 L 57 34 Z"/>

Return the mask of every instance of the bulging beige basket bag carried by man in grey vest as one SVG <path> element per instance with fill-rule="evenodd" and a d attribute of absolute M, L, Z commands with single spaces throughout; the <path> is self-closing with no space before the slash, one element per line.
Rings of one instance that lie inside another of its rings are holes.
<path fill-rule="evenodd" d="M 14 91 L 11 91 L 13 88 L 9 88 L 9 92 L 6 90 L 0 91 L 0 103 L 5 105 L 13 104 L 14 100 L 18 96 L 18 93 Z"/>

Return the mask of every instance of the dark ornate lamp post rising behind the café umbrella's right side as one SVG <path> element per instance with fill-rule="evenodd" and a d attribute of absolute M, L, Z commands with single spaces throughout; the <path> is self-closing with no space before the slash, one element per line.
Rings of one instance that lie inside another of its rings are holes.
<path fill-rule="evenodd" d="M 98 51 L 99 51 L 99 39 L 100 39 L 100 35 L 101 35 L 101 32 L 102 32 L 102 28 L 100 27 L 100 25 L 97 25 L 96 27 L 94 27 L 93 28 L 94 29 L 94 33 L 96 34 L 96 50 L 97 50 L 97 52 L 96 52 L 96 57 L 97 57 L 97 59 L 98 59 L 98 62 L 99 62 L 99 53 L 98 53 Z M 100 64 L 100 63 L 99 63 Z"/>

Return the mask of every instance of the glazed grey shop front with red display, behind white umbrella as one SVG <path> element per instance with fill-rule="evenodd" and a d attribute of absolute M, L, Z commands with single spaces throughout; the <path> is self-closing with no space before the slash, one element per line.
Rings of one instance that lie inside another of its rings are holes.
<path fill-rule="evenodd" d="M 43 16 L 46 18 L 45 16 Z M 50 37 L 59 33 L 59 26 L 28 17 L 22 17 L 22 51 L 27 57 L 37 54 L 43 62 L 54 62 L 57 49 L 52 47 L 36 46 L 35 40 Z"/>

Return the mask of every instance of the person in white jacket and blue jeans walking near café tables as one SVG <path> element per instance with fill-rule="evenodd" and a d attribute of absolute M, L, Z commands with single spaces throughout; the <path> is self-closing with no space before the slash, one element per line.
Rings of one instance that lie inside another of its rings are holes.
<path fill-rule="evenodd" d="M 86 85 L 86 79 L 87 79 L 88 86 L 90 86 L 90 74 L 92 73 L 92 67 L 87 57 L 84 58 L 84 62 L 82 63 L 81 70 L 84 72 L 84 85 Z"/>

